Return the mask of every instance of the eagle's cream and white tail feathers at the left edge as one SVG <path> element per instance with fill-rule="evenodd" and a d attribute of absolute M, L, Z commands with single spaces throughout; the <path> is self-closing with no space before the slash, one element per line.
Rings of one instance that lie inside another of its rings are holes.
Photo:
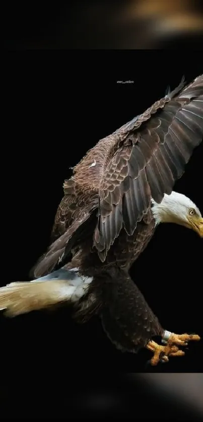
<path fill-rule="evenodd" d="M 10 283 L 0 288 L 0 310 L 14 317 L 60 303 L 74 304 L 84 295 L 87 286 L 76 273 L 67 271 L 62 278 L 53 278 L 50 274 L 31 282 Z"/>

